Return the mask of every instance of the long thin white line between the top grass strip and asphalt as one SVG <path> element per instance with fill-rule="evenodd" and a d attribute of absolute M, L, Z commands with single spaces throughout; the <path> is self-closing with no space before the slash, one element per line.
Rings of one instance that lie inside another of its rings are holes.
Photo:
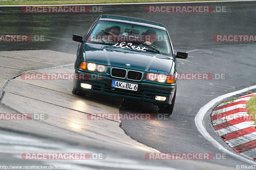
<path fill-rule="evenodd" d="M 12 7 L 12 6 L 68 6 L 68 5 L 132 5 L 132 4 L 186 4 L 186 3 L 216 3 L 216 2 L 252 2 L 256 0 L 234 0 L 234 1 L 188 1 L 188 2 L 142 2 L 142 3 L 112 3 L 112 4 L 59 4 L 59 5 L 0 5 L 0 7 Z"/>

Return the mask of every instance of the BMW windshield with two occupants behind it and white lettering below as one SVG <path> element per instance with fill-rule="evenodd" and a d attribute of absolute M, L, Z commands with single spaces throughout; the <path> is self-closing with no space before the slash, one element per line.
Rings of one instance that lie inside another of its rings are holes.
<path fill-rule="evenodd" d="M 86 43 L 172 55 L 166 31 L 122 22 L 99 21 L 89 34 Z"/>

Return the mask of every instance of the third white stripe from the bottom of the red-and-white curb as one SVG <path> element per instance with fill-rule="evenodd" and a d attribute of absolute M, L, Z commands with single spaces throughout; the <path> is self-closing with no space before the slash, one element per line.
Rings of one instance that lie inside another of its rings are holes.
<path fill-rule="evenodd" d="M 254 121 L 241 122 L 241 123 L 237 123 L 235 125 L 228 126 L 226 128 L 219 129 L 219 130 L 216 130 L 216 131 L 219 133 L 220 136 L 222 136 L 222 135 L 226 135 L 228 133 L 234 132 L 236 130 L 248 128 L 250 126 L 256 126 L 256 125 L 253 125 L 253 123 L 254 123 Z"/>

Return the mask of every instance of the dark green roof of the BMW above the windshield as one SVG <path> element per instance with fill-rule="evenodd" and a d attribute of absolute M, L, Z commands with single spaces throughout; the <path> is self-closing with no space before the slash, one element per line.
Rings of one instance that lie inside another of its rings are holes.
<path fill-rule="evenodd" d="M 126 17 L 126 16 L 120 16 L 120 15 L 101 15 L 99 18 L 100 20 L 125 22 L 125 23 L 149 26 L 149 27 L 154 27 L 161 30 L 166 30 L 164 24 L 154 22 L 154 21 L 149 21 L 146 19 Z"/>

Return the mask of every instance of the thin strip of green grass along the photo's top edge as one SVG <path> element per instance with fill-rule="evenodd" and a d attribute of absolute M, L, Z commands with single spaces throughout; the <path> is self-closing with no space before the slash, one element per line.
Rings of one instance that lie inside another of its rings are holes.
<path fill-rule="evenodd" d="M 140 2 L 186 2 L 210 0 L 20 0 L 0 1 L 0 5 L 56 5 L 56 4 L 112 4 L 112 3 L 140 3 Z M 221 0 L 219 0 L 221 1 Z"/>

